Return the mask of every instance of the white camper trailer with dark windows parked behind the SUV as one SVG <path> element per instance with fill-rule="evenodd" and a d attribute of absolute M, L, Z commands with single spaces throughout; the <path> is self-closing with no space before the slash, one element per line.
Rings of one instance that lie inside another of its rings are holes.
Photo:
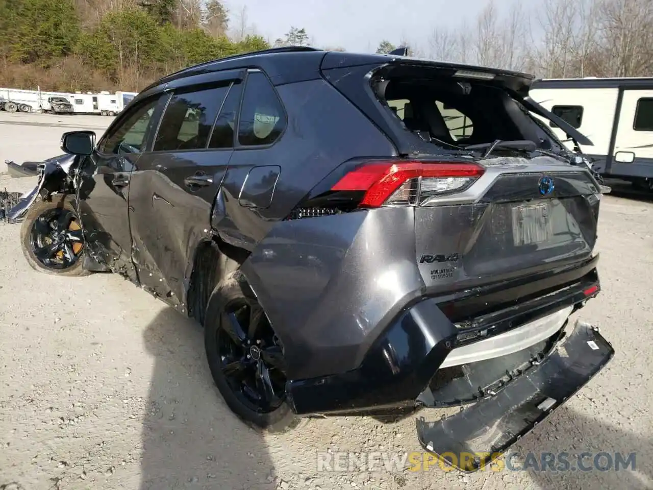
<path fill-rule="evenodd" d="M 529 95 L 592 140 L 581 150 L 597 172 L 653 190 L 653 78 L 535 80 Z"/>

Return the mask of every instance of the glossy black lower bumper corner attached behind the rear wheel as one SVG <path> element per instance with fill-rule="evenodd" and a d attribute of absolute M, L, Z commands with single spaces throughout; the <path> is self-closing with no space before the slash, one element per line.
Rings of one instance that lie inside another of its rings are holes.
<path fill-rule="evenodd" d="M 286 393 L 293 411 L 304 416 L 361 414 L 415 406 L 457 333 L 436 301 L 421 301 L 383 332 L 359 368 L 289 382 Z"/>

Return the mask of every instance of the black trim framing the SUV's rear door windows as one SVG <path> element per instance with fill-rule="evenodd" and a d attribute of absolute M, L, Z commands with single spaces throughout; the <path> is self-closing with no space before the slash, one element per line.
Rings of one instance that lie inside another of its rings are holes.
<path fill-rule="evenodd" d="M 232 152 L 234 150 L 233 147 L 232 148 L 208 148 L 208 145 L 211 142 L 211 137 L 213 136 L 213 131 L 215 129 L 215 123 L 217 122 L 217 118 L 219 118 L 220 113 L 222 112 L 222 108 L 225 106 L 225 102 L 227 101 L 227 97 L 229 97 L 229 92 L 231 91 L 232 86 L 234 86 L 236 80 L 240 80 L 240 82 L 244 83 L 244 80 L 246 80 L 246 76 L 244 76 L 244 71 L 242 69 L 228 69 L 224 71 L 216 71 L 212 74 L 214 76 L 212 76 L 210 80 L 202 80 L 201 82 L 197 82 L 195 84 L 180 85 L 174 88 L 168 88 L 164 90 L 164 93 L 168 94 L 168 100 L 166 101 L 163 110 L 161 110 L 161 115 L 159 116 L 159 121 L 157 122 L 157 129 L 154 132 L 151 141 L 148 142 L 148 146 L 147 146 L 148 154 L 158 155 L 158 154 L 168 154 L 168 153 L 198 153 L 198 152 L 225 152 L 225 151 Z M 163 122 L 163 116 L 165 115 L 165 110 L 168 108 L 168 104 L 170 103 L 174 95 L 178 93 L 210 90 L 211 88 L 217 88 L 217 86 L 224 84 L 224 82 L 229 82 L 227 87 L 227 93 L 225 94 L 225 98 L 222 99 L 222 103 L 220 105 L 220 108 L 217 110 L 217 114 L 215 114 L 213 124 L 211 125 L 211 131 L 209 133 L 208 139 L 206 140 L 206 145 L 204 145 L 204 148 L 191 148 L 189 150 L 156 150 L 156 151 L 153 150 L 154 143 L 157 140 L 157 135 L 159 135 L 161 122 Z M 238 117 L 238 114 L 240 114 L 240 103 L 242 103 L 242 93 L 241 93 L 240 101 L 238 101 L 238 107 L 236 108 L 237 111 L 236 117 Z M 234 123 L 234 127 L 235 128 L 238 127 L 237 123 Z M 234 130 L 234 135 L 236 135 L 236 133 L 237 131 Z M 233 145 L 233 141 L 232 141 L 232 145 Z"/>

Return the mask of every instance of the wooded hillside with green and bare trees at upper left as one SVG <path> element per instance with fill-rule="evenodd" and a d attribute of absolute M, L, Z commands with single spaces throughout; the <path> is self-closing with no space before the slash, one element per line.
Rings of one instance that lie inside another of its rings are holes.
<path fill-rule="evenodd" d="M 0 86 L 138 91 L 193 63 L 269 47 L 242 24 L 227 37 L 218 0 L 0 0 Z M 278 44 L 306 42 L 303 29 L 288 37 Z"/>

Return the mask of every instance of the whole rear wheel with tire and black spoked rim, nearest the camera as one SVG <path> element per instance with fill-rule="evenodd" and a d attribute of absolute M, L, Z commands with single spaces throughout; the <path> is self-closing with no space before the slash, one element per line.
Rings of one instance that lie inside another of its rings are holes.
<path fill-rule="evenodd" d="M 238 270 L 211 295 L 204 345 L 215 385 L 236 416 L 268 432 L 298 425 L 286 401 L 283 346 Z"/>

